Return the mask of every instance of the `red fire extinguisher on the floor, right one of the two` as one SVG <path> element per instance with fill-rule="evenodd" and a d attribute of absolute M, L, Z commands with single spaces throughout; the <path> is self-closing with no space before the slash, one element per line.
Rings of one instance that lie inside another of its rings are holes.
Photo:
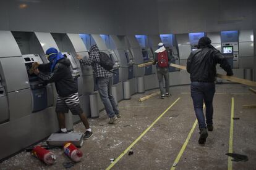
<path fill-rule="evenodd" d="M 64 153 L 74 162 L 79 162 L 83 156 L 83 153 L 71 143 L 64 145 Z"/>

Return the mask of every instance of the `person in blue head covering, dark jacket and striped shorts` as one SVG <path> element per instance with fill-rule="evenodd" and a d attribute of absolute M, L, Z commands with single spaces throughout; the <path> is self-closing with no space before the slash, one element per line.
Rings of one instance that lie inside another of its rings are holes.
<path fill-rule="evenodd" d="M 73 115 L 79 115 L 85 126 L 83 139 L 92 137 L 87 117 L 80 107 L 77 84 L 70 71 L 70 60 L 66 59 L 61 52 L 51 47 L 46 51 L 49 63 L 40 64 L 34 73 L 46 83 L 55 83 L 58 99 L 56 103 L 56 113 L 58 116 L 61 133 L 66 133 L 65 114 L 70 110 Z"/>

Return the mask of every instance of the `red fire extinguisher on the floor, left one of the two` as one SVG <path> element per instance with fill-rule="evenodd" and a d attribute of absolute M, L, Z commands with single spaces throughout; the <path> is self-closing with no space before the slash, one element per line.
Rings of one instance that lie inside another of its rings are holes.
<path fill-rule="evenodd" d="M 53 152 L 49 152 L 49 150 L 46 150 L 40 146 L 33 148 L 32 154 L 46 164 L 54 164 L 56 161 L 56 156 Z"/>

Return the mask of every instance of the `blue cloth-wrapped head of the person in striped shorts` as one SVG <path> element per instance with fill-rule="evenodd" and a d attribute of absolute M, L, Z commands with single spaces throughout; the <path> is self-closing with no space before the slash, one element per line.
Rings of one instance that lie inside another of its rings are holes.
<path fill-rule="evenodd" d="M 51 72 L 53 72 L 53 69 L 54 69 L 56 63 L 59 60 L 64 58 L 64 56 L 61 54 L 61 52 L 58 52 L 58 50 L 53 47 L 49 48 L 46 51 L 46 57 L 49 60 L 49 62 L 51 63 Z"/>

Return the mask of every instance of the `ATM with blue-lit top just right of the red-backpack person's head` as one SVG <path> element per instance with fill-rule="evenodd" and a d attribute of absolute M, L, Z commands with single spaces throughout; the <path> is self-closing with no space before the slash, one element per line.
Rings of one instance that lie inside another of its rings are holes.
<path fill-rule="evenodd" d="M 166 49 L 171 55 L 171 62 L 179 65 L 179 55 L 177 53 L 177 43 L 175 41 L 174 34 L 160 34 L 161 42 L 163 42 Z M 179 69 L 174 67 L 169 67 L 169 72 L 179 71 Z"/>

